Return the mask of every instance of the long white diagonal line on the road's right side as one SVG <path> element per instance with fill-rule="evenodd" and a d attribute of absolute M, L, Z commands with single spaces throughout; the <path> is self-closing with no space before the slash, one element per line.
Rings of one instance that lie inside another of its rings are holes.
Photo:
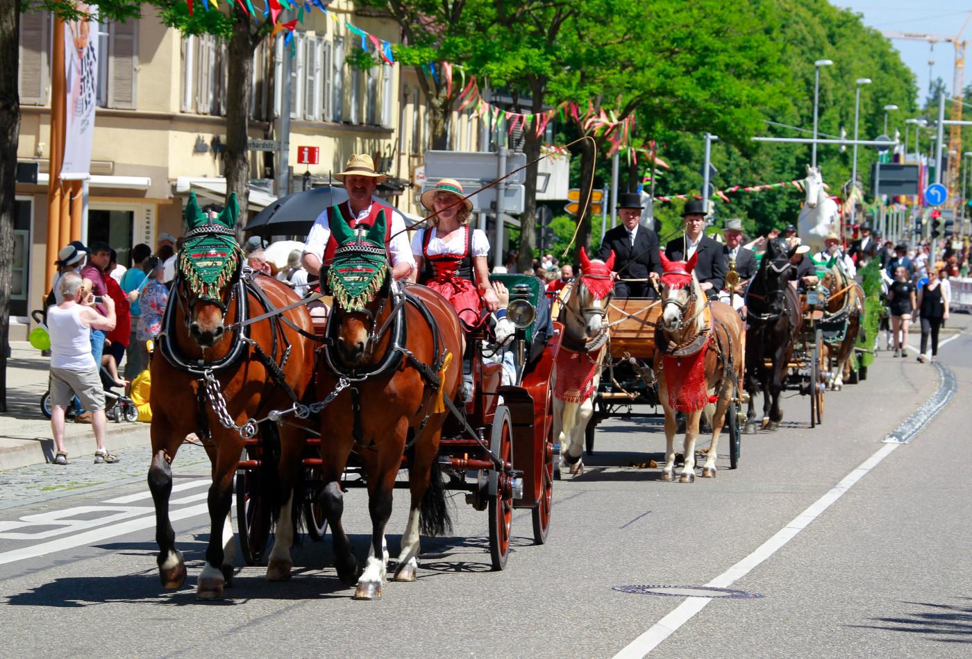
<path fill-rule="evenodd" d="M 938 346 L 941 347 L 950 341 L 955 341 L 955 339 L 957 339 L 959 336 L 961 335 L 950 337 L 946 341 L 940 343 Z M 939 386 L 941 386 L 941 380 L 939 382 Z M 745 577 L 756 566 L 776 553 L 781 546 L 791 541 L 798 533 L 800 533 L 800 531 L 805 529 L 812 521 L 814 521 L 821 512 L 830 508 L 830 506 L 844 496 L 844 494 L 851 489 L 851 487 L 858 480 L 864 478 L 864 476 L 866 476 L 872 469 L 881 464 L 881 461 L 890 455 L 891 451 L 898 446 L 901 445 L 883 445 L 881 448 L 875 451 L 871 457 L 862 462 L 859 467 L 854 469 L 850 474 L 841 479 L 839 483 L 834 485 L 829 492 L 817 499 L 816 502 L 810 506 L 810 508 L 794 517 L 788 524 L 786 524 L 786 526 L 777 532 L 776 535 L 757 547 L 755 551 L 746 556 L 746 558 L 741 560 L 739 563 L 732 566 L 718 577 L 713 578 L 712 581 L 706 585 L 715 588 L 727 588 L 736 580 Z M 711 597 L 692 597 L 686 599 L 684 602 L 678 605 L 675 610 L 648 628 L 648 630 L 645 631 L 640 637 L 631 643 L 628 643 L 627 646 L 614 655 L 614 659 L 641 659 L 648 652 L 658 647 L 659 644 L 672 636 L 679 627 L 691 620 L 696 613 L 705 609 L 706 605 L 708 605 L 710 602 L 712 602 Z"/>

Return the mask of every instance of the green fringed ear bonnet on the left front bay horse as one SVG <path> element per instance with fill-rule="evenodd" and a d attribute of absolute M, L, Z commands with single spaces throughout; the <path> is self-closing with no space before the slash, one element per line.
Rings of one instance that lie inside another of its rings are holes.
<path fill-rule="evenodd" d="M 177 267 L 191 291 L 201 299 L 220 300 L 221 290 L 233 280 L 243 260 L 233 227 L 239 207 L 236 193 L 230 192 L 220 214 L 199 208 L 195 193 L 186 205 L 186 238 L 179 250 Z"/>

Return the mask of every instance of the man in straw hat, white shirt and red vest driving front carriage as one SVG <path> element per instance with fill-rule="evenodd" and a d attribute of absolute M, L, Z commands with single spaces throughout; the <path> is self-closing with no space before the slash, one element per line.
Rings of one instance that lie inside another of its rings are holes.
<path fill-rule="evenodd" d="M 408 277 L 415 268 L 415 259 L 408 244 L 405 223 L 391 206 L 372 199 L 378 183 L 385 181 L 385 175 L 375 171 L 371 156 L 364 153 L 353 154 L 348 158 L 344 171 L 335 174 L 334 178 L 344 183 L 348 201 L 325 209 L 314 221 L 304 245 L 304 268 L 308 273 L 318 275 L 322 265 L 330 265 L 334 249 L 337 248 L 336 241 L 330 235 L 331 213 L 340 213 L 348 226 L 354 229 L 359 225 L 363 228 L 370 227 L 378 214 L 384 212 L 387 227 L 385 247 L 392 262 L 392 276 L 397 280 Z"/>

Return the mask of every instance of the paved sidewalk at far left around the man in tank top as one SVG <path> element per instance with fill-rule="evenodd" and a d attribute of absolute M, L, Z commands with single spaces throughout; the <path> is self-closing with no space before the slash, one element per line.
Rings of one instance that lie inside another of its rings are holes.
<path fill-rule="evenodd" d="M 11 347 L 11 359 L 7 361 L 7 413 L 0 414 L 0 471 L 50 462 L 54 454 L 51 421 L 41 412 L 51 360 L 23 341 L 11 342 Z M 112 451 L 129 446 L 148 447 L 149 424 L 109 421 L 105 445 Z M 69 460 L 93 460 L 94 431 L 90 424 L 67 421 L 64 446 Z"/>

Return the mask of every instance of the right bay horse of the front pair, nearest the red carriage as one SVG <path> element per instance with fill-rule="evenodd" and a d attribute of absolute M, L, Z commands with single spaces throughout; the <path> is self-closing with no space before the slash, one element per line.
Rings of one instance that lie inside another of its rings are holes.
<path fill-rule="evenodd" d="M 348 585 L 357 583 L 355 598 L 363 600 L 381 597 L 389 559 L 385 525 L 403 455 L 411 507 L 395 580 L 415 580 L 420 529 L 435 535 L 449 527 L 438 445 L 448 414 L 444 400 L 455 399 L 462 379 L 459 317 L 433 290 L 403 288 L 392 280 L 384 222 L 379 214 L 367 236 L 352 235 L 342 219 L 331 227 L 340 247 L 330 267 L 335 292 L 330 344 L 321 350 L 317 368 L 319 396 L 344 387 L 320 417 L 323 505 L 337 576 Z M 361 285 L 367 278 L 369 283 Z M 341 522 L 341 475 L 352 451 L 364 465 L 372 524 L 364 571 Z"/>

